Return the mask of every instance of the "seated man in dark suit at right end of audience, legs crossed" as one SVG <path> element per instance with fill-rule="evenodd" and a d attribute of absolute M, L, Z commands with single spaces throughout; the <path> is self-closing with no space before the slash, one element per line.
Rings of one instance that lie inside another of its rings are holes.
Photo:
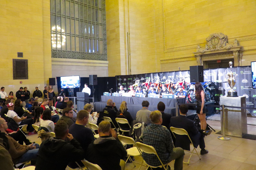
<path fill-rule="evenodd" d="M 180 105 L 180 116 L 175 116 L 171 118 L 171 122 L 170 122 L 170 126 L 173 126 L 174 128 L 182 128 L 185 129 L 189 135 L 189 137 L 191 138 L 194 146 L 197 148 L 197 146 L 199 145 L 200 149 L 201 149 L 201 155 L 203 154 L 207 154 L 208 150 L 204 149 L 205 148 L 205 144 L 204 144 L 204 135 L 200 132 L 198 132 L 198 129 L 196 128 L 194 121 L 190 120 L 186 117 L 188 111 L 188 106 L 185 104 Z M 184 139 L 185 137 L 185 139 Z M 188 139 L 186 138 L 185 135 L 177 135 L 176 136 L 176 142 L 175 142 L 175 147 L 181 147 L 183 149 L 186 148 L 186 144 L 188 144 L 189 147 L 189 143 L 186 142 L 179 142 L 179 141 L 188 141 Z M 188 150 L 188 149 L 186 149 Z"/>

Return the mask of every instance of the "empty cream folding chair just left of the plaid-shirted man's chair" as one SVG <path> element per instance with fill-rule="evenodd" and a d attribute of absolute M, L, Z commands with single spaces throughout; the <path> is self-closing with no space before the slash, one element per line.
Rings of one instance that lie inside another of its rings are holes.
<path fill-rule="evenodd" d="M 131 137 L 122 136 L 122 135 L 118 135 L 117 137 L 118 137 L 118 139 L 119 139 L 121 142 L 126 143 L 127 145 L 136 145 L 134 139 L 131 138 Z M 135 161 L 133 161 L 133 160 L 131 159 L 131 156 L 139 156 L 139 155 L 141 155 L 141 153 L 140 153 L 140 151 L 139 151 L 139 149 L 138 149 L 137 147 L 132 147 L 132 148 L 126 149 L 126 152 L 127 152 L 128 158 L 126 159 L 125 165 L 126 165 L 128 159 L 129 159 L 132 163 L 135 162 Z M 138 162 L 135 162 L 135 163 L 140 164 L 140 163 L 138 163 Z M 141 168 L 141 166 L 142 166 L 142 163 L 143 163 L 143 161 L 142 161 L 141 164 L 140 164 L 140 168 Z M 133 163 L 133 165 L 134 165 L 134 167 L 136 167 L 134 163 Z M 140 168 L 139 168 L 139 169 L 140 169 Z"/>

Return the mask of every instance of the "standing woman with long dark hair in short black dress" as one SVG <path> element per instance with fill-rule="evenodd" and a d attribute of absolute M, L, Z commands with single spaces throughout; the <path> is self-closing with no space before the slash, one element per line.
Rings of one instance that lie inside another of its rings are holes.
<path fill-rule="evenodd" d="M 208 110 L 204 103 L 204 90 L 203 90 L 202 84 L 199 82 L 196 82 L 195 89 L 196 89 L 195 93 L 196 93 L 197 115 L 200 119 L 201 130 L 205 130 L 207 126 L 205 116 Z"/>

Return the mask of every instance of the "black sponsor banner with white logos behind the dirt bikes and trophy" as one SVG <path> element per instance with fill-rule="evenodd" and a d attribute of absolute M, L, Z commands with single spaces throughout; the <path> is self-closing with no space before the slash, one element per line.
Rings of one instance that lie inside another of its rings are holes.
<path fill-rule="evenodd" d="M 210 90 L 212 94 L 211 101 L 219 105 L 219 97 L 226 96 L 230 87 L 228 85 L 225 75 L 230 72 L 230 68 L 218 68 L 218 69 L 205 69 L 204 81 L 211 81 Z M 252 88 L 252 72 L 251 66 L 233 67 L 232 72 L 238 74 L 237 82 L 234 86 L 234 90 L 237 91 L 238 96 L 246 97 L 246 107 L 256 107 L 256 89 Z M 185 78 L 185 82 L 190 83 L 190 71 L 172 71 L 172 72 L 156 72 L 146 74 L 133 74 L 133 75 L 117 75 L 116 76 L 116 91 L 119 91 L 119 86 L 124 86 L 126 92 L 130 91 L 129 86 L 133 85 L 136 80 L 140 80 L 140 83 L 146 82 L 146 79 L 150 79 L 152 83 L 156 80 L 160 80 L 165 84 L 166 80 L 171 80 L 172 83 L 177 83 L 180 78 Z M 249 113 L 256 114 L 256 110 L 247 109 Z"/>

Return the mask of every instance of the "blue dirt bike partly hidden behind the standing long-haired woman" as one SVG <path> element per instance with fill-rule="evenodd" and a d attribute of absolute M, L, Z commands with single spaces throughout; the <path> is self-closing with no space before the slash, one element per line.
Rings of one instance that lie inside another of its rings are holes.
<path fill-rule="evenodd" d="M 205 100 L 209 102 L 212 98 L 211 90 L 209 88 L 209 85 L 212 82 L 201 82 L 204 90 L 204 95 L 205 95 Z M 196 83 L 189 83 L 189 89 L 187 90 L 187 101 L 189 103 L 195 103 L 196 102 L 196 89 L 195 89 L 195 84 Z"/>

